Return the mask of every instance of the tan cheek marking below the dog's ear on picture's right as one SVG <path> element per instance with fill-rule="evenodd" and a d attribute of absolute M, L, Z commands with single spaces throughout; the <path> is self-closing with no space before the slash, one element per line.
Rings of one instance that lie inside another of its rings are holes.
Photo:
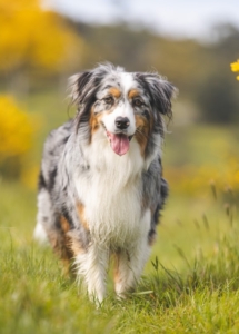
<path fill-rule="evenodd" d="M 135 117 L 137 128 L 135 137 L 140 146 L 141 156 L 145 157 L 146 147 L 150 134 L 150 122 L 143 116 L 136 115 Z"/>

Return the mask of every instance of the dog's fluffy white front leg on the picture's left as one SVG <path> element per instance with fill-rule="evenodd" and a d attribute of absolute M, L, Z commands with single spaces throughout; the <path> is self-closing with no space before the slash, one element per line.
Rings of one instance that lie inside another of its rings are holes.
<path fill-rule="evenodd" d="M 90 299 L 101 303 L 106 296 L 109 252 L 97 244 L 90 244 L 86 253 L 76 256 L 76 265 L 79 282 L 83 281 L 87 285 Z"/>

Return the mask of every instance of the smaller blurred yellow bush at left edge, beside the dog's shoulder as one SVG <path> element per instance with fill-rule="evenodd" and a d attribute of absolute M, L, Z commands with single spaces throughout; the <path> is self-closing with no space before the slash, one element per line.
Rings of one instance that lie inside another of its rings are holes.
<path fill-rule="evenodd" d="M 20 160 L 31 147 L 30 116 L 11 96 L 0 95 L 0 173 L 19 175 Z"/>

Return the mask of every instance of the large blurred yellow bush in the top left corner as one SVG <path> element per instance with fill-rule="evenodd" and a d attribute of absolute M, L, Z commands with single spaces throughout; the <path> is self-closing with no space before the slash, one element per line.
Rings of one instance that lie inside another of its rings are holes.
<path fill-rule="evenodd" d="M 46 73 L 79 65 L 83 40 L 40 0 L 0 0 L 0 71 L 33 67 Z"/>

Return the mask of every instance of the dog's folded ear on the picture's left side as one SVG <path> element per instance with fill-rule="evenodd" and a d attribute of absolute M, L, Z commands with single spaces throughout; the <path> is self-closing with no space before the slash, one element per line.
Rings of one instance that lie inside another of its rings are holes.
<path fill-rule="evenodd" d="M 70 90 L 70 98 L 72 104 L 81 105 L 84 101 L 87 92 L 89 92 L 89 84 L 92 78 L 92 71 L 79 72 L 68 80 L 68 88 Z"/>

